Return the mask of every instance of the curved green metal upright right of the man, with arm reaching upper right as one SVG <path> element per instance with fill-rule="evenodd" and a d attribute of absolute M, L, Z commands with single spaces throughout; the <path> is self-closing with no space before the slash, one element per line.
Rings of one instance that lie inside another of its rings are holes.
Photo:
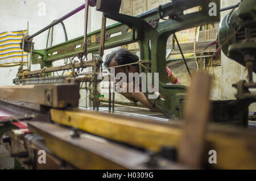
<path fill-rule="evenodd" d="M 155 104 L 158 110 L 163 110 L 166 115 L 173 119 L 179 119 L 182 115 L 181 104 L 184 100 L 186 87 L 182 85 L 172 85 L 164 71 L 166 69 L 167 39 L 174 32 L 220 20 L 220 14 L 217 14 L 217 16 L 209 16 L 208 5 L 210 2 L 215 2 L 217 10 L 220 9 L 220 1 L 174 1 L 176 4 L 172 8 L 174 9 L 172 14 L 175 14 L 177 18 L 159 23 L 158 27 L 155 29 L 144 32 L 143 39 L 139 40 L 141 45 L 141 59 L 151 60 L 151 71 L 159 73 L 159 92 L 164 96 L 164 99 L 159 97 L 156 100 L 148 100 L 152 104 Z M 195 6 L 201 6 L 202 10 L 183 15 L 184 10 Z M 179 7 L 179 9 L 175 9 L 175 7 Z M 151 45 L 149 45 L 149 43 L 151 43 Z M 141 71 L 148 70 L 141 68 Z"/>

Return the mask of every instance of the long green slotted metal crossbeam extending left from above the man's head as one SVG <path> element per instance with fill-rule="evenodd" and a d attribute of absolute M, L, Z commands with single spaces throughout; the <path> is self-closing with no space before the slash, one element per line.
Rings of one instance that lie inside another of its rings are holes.
<path fill-rule="evenodd" d="M 133 31 L 127 32 L 129 27 L 125 24 L 116 23 L 112 26 L 106 27 L 105 49 L 118 47 L 135 42 L 133 38 Z M 121 32 L 121 35 L 113 36 L 115 33 Z M 77 37 L 64 43 L 42 49 L 32 50 L 32 64 L 40 64 L 41 68 L 44 66 L 51 66 L 52 62 L 64 58 L 73 57 L 82 52 L 84 36 Z M 100 47 L 100 30 L 88 33 L 87 37 L 87 52 L 97 52 Z M 27 49 L 28 51 L 28 49 Z"/>

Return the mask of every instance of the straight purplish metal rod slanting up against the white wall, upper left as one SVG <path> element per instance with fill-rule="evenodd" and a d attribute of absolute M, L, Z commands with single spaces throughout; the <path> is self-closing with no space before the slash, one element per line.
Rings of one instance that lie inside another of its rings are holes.
<path fill-rule="evenodd" d="M 52 22 L 52 23 L 49 24 L 48 26 L 44 27 L 42 30 L 39 30 L 38 32 L 34 33 L 33 35 L 27 36 L 27 37 L 25 38 L 26 41 L 31 41 L 31 39 L 32 39 L 33 37 L 39 35 L 40 33 L 44 32 L 44 31 L 46 31 L 46 30 L 48 30 L 49 28 L 55 26 L 56 24 L 62 22 L 63 20 L 69 18 L 70 16 L 76 14 L 77 12 L 83 10 L 84 7 L 85 7 L 85 4 L 83 4 L 83 5 L 79 6 L 79 7 L 77 7 L 75 10 L 69 12 L 68 14 L 66 14 L 66 15 L 64 15 L 64 16 L 62 16 L 60 19 L 57 19 L 55 22 Z"/>

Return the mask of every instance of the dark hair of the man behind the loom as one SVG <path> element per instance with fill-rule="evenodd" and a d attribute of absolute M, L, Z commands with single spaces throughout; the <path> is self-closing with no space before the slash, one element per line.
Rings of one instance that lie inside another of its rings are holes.
<path fill-rule="evenodd" d="M 127 49 L 119 49 L 115 50 L 112 53 L 106 56 L 106 60 L 104 62 L 104 66 L 109 68 L 110 61 L 114 58 L 114 60 L 118 63 L 118 65 L 131 64 L 139 61 L 139 57 L 133 53 L 131 53 Z"/>

